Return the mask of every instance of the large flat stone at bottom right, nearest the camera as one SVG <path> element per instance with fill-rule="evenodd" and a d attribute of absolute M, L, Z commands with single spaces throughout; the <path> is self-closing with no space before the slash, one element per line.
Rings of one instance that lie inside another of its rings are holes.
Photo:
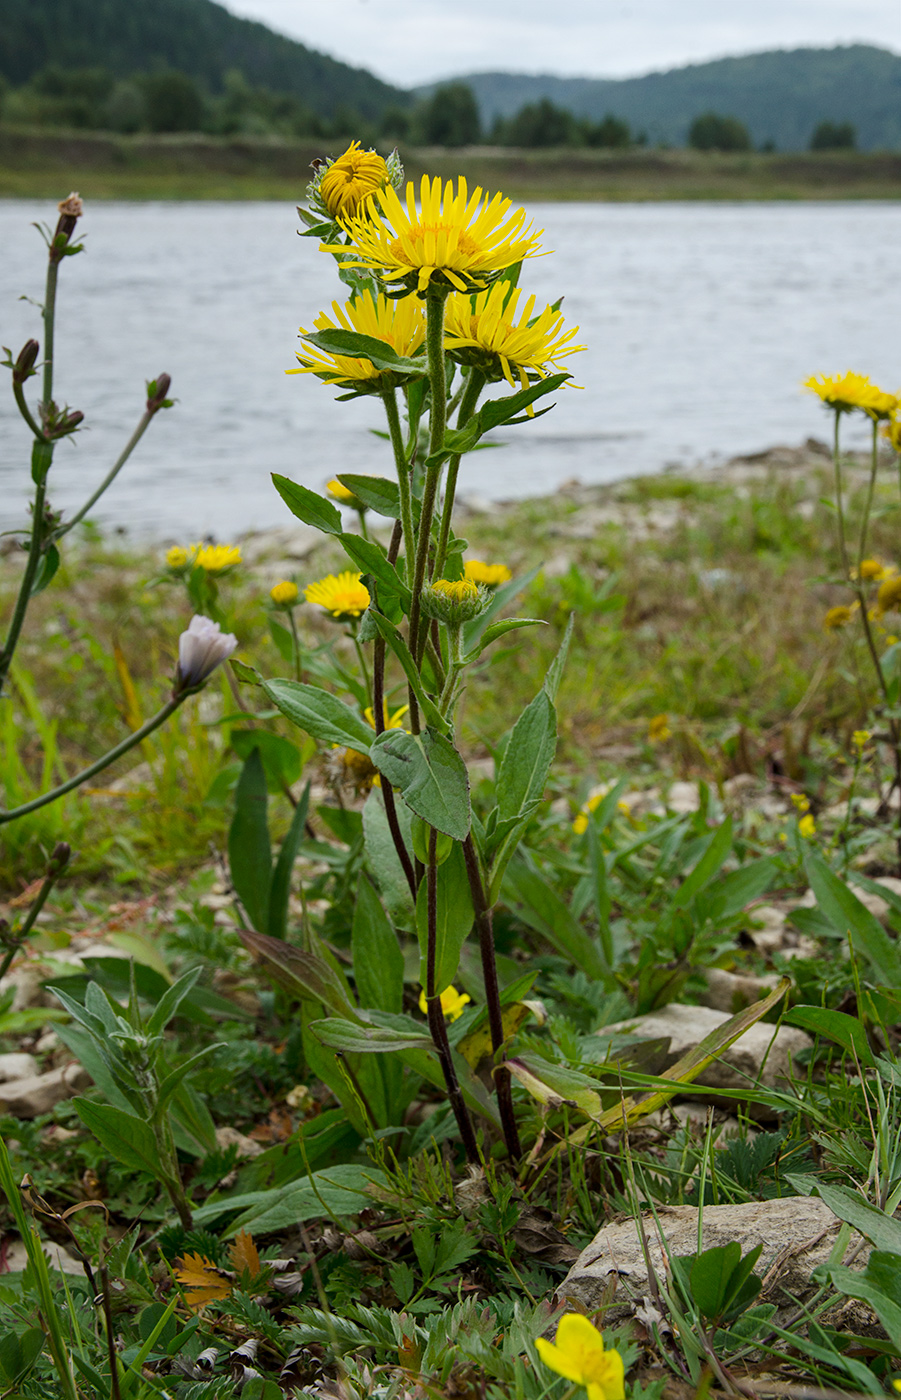
<path fill-rule="evenodd" d="M 660 1205 L 658 1219 L 672 1254 L 697 1253 L 697 1207 Z M 651 1267 L 663 1291 L 667 1264 L 653 1215 L 642 1217 L 642 1225 Z M 793 1298 L 803 1301 L 813 1292 L 810 1275 L 828 1260 L 841 1228 L 841 1221 L 818 1197 L 790 1196 L 775 1201 L 751 1201 L 746 1205 L 705 1205 L 702 1249 L 730 1245 L 735 1240 L 746 1254 L 757 1245 L 762 1245 L 754 1267 L 757 1277 L 767 1280 L 761 1298 L 764 1302 L 789 1308 Z M 845 1254 L 859 1245 L 860 1238 L 852 1235 Z M 869 1253 L 869 1246 L 865 1246 L 853 1261 L 846 1261 L 855 1268 L 863 1268 Z M 635 1305 L 649 1292 L 642 1243 L 631 1217 L 606 1225 L 595 1236 L 564 1278 L 557 1296 L 588 1313 L 595 1312 L 607 1298 L 611 1274 L 616 1278 L 616 1295 L 604 1312 L 606 1327 L 631 1316 Z"/>

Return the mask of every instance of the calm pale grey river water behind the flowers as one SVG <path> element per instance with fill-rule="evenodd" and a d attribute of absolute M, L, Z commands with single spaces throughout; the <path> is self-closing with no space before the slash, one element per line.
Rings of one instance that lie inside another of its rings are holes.
<path fill-rule="evenodd" d="M 50 206 L 0 200 L 0 343 L 41 337 Z M 581 391 L 463 459 L 462 490 L 505 498 L 574 476 L 607 482 L 827 434 L 799 382 L 848 367 L 901 382 L 901 204 L 536 204 L 554 256 L 526 265 L 539 298 L 565 295 L 589 349 Z M 336 403 L 285 377 L 297 328 L 343 300 L 334 265 L 295 235 L 290 204 L 105 203 L 87 251 L 63 263 L 57 395 L 90 431 L 56 452 L 52 501 L 73 511 L 137 421 L 144 381 L 172 375 L 178 406 L 151 426 L 95 510 L 143 536 L 227 538 L 288 524 L 270 472 L 320 489 L 385 475 L 381 405 Z M 36 384 L 38 381 L 31 381 Z M 0 528 L 27 501 L 28 434 L 0 386 Z"/>

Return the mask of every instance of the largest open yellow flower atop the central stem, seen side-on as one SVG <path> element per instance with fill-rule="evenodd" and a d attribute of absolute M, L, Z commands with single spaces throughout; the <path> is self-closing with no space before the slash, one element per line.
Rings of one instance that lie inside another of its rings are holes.
<path fill-rule="evenodd" d="M 420 207 L 413 183 L 406 203 L 388 186 L 372 196 L 357 218 L 341 225 L 351 246 L 320 244 L 325 252 L 343 253 L 341 267 L 367 267 L 386 283 L 407 291 L 437 286 L 469 291 L 537 252 L 539 235 L 526 224 L 526 213 L 509 213 L 511 200 L 488 199 L 480 188 L 469 195 L 460 176 L 442 188 L 439 178 L 423 176 Z M 381 206 L 381 207 L 379 207 Z"/>

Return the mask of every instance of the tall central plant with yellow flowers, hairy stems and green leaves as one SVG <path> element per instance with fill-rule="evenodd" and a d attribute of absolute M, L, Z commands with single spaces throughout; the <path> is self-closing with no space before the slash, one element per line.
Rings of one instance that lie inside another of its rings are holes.
<path fill-rule="evenodd" d="M 400 1054 L 409 1064 L 416 1057 L 427 1077 L 430 1064 L 438 1067 L 470 1161 L 478 1156 L 473 1113 L 498 1124 L 516 1158 L 492 906 L 544 791 L 557 738 L 554 694 L 562 655 L 506 745 L 497 805 L 484 822 L 474 819 L 456 729 L 466 672 L 506 631 L 530 626 L 533 619 L 501 616 L 519 587 L 505 570 L 491 574 L 485 566 L 464 566 L 453 505 L 463 454 L 491 428 L 529 424 L 547 412 L 534 405 L 567 384 L 567 357 L 582 347 L 575 344 L 578 328 L 565 329 L 557 307 L 523 300 L 522 265 L 541 248 L 540 232 L 522 209 L 501 195 L 470 192 L 464 179 L 424 176 L 418 190 L 407 183 L 403 192 L 402 182 L 395 158 L 383 161 L 357 143 L 316 171 L 309 207 L 299 213 L 305 232 L 337 262 L 350 295 L 318 315 L 312 329 L 301 328 L 304 349 L 297 368 L 288 371 L 319 378 L 340 389 L 341 399 L 379 398 L 393 475 L 339 472 L 329 484 L 332 500 L 284 476 L 273 477 L 290 510 L 332 535 L 351 561 L 353 570 L 323 581 L 313 601 L 350 627 L 365 703 L 358 687 L 348 703 L 299 680 L 260 683 L 306 734 L 325 745 L 343 745 L 368 764 L 375 780 L 364 812 L 369 865 L 376 881 L 385 876 L 381 843 L 389 841 L 392 864 L 406 886 L 406 913 L 393 902 L 392 918 L 395 927 L 416 930 L 420 942 L 428 1036 L 421 1022 L 400 1014 L 400 987 L 382 981 L 381 995 L 371 998 L 381 1005 L 351 1007 L 337 993 L 325 948 L 308 948 L 299 972 L 308 998 L 332 1012 L 311 1022 L 312 1033 L 340 1054 L 382 1051 Z M 346 528 L 333 500 L 353 503 L 362 532 Z M 362 510 L 393 522 L 386 545 L 367 532 Z M 406 692 L 403 721 L 397 713 L 389 721 L 388 699 L 399 690 Z M 374 946 L 381 939 L 382 970 L 396 966 L 400 977 L 396 934 L 385 931 L 386 923 L 382 910 L 367 927 Z M 448 1033 L 448 1023 L 463 1015 L 469 1000 L 452 983 L 471 931 L 478 939 L 485 1007 L 484 1015 L 471 1008 L 467 1015 L 487 1019 L 494 1098 L 485 1095 Z M 271 963 L 283 956 L 264 935 L 249 932 L 248 941 Z M 372 988 L 376 979 L 362 981 Z M 425 1058 L 424 1049 L 430 1051 Z"/>

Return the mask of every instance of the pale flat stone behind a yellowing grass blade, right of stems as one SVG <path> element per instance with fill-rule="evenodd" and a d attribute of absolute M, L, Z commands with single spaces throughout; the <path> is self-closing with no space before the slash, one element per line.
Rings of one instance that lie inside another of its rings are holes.
<path fill-rule="evenodd" d="M 686 1007 L 672 1002 L 646 1016 L 604 1026 L 597 1035 L 634 1035 L 641 1040 L 669 1039 L 665 1065 L 669 1068 L 729 1018 L 729 1012 L 714 1011 L 712 1007 Z M 793 1056 L 811 1047 L 813 1040 L 803 1030 L 795 1026 L 769 1026 L 758 1021 L 749 1026 L 721 1058 L 701 1071 L 690 1091 L 750 1089 L 757 1082 L 775 1089 L 797 1075 Z"/>

